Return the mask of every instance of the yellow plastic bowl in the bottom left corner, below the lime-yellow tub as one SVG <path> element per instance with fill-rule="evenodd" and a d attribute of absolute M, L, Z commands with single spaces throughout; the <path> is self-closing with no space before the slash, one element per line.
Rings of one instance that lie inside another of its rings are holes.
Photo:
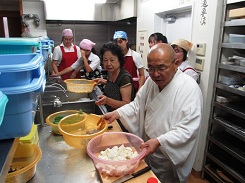
<path fill-rule="evenodd" d="M 42 157 L 42 151 L 36 144 L 30 146 L 33 149 L 32 156 L 27 157 L 25 153 L 23 157 L 14 156 L 11 167 L 19 170 L 8 173 L 5 183 L 28 182 L 35 175 L 36 165 Z"/>

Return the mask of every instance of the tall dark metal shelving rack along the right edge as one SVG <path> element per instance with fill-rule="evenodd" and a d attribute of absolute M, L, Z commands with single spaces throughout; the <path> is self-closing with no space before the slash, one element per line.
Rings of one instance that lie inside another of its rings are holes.
<path fill-rule="evenodd" d="M 228 57 L 236 54 L 245 56 L 245 44 L 228 42 L 229 34 L 245 32 L 245 19 L 232 20 L 228 16 L 231 9 L 243 7 L 244 0 L 224 0 L 219 58 L 203 168 L 203 176 L 210 182 L 245 182 L 245 91 L 230 87 L 220 80 L 224 73 L 239 74 L 245 80 L 245 67 L 226 64 Z M 217 96 L 232 96 L 236 100 L 221 102 L 217 100 Z"/>

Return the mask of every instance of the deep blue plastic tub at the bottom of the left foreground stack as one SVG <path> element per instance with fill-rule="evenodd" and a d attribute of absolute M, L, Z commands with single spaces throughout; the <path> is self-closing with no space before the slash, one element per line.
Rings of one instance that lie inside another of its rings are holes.
<path fill-rule="evenodd" d="M 0 140 L 22 137 L 30 133 L 34 118 L 33 111 L 35 111 L 33 107 L 36 106 L 37 102 L 37 92 L 44 90 L 45 82 L 43 70 L 40 77 L 34 78 L 30 84 L 0 88 L 9 99 L 0 126 Z"/>

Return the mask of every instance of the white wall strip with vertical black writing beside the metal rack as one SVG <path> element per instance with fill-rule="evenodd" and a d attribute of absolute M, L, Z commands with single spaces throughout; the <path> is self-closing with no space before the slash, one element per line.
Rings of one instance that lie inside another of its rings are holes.
<path fill-rule="evenodd" d="M 207 14 L 205 17 L 207 23 L 205 25 L 201 25 L 203 19 L 201 16 L 201 12 L 203 10 L 203 2 L 204 0 L 196 0 L 195 2 L 192 31 L 192 40 L 194 43 L 206 42 L 207 44 L 204 71 L 202 72 L 200 83 L 204 98 L 204 111 L 199 139 L 198 154 L 196 157 L 196 162 L 194 164 L 194 169 L 197 171 L 200 171 L 202 168 L 202 160 L 206 145 L 206 135 L 211 110 L 211 100 L 213 95 L 214 74 L 218 55 L 218 43 L 221 31 L 220 27 L 223 0 L 206 0 L 208 6 L 206 8 Z"/>

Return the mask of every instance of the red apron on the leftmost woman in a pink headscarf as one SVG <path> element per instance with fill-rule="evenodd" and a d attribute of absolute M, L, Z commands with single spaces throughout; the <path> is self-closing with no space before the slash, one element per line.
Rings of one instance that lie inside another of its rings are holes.
<path fill-rule="evenodd" d="M 74 45 L 74 52 L 65 52 L 63 46 L 60 46 L 60 49 L 62 52 L 62 59 L 61 59 L 61 62 L 60 62 L 59 68 L 58 68 L 59 72 L 66 69 L 67 67 L 70 67 L 78 59 L 77 58 L 77 48 L 75 45 Z M 70 79 L 70 76 L 73 72 L 74 71 L 63 74 L 61 76 L 62 80 Z M 76 78 L 81 79 L 81 73 L 80 72 L 77 73 Z"/>

